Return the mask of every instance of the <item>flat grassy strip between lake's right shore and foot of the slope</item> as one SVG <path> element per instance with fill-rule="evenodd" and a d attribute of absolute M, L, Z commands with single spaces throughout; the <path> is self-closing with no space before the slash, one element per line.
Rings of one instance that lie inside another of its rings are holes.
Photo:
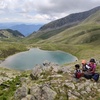
<path fill-rule="evenodd" d="M 70 44 L 62 44 L 62 43 L 43 43 L 31 45 L 33 47 L 40 47 L 44 50 L 61 50 L 72 55 L 76 56 L 78 59 L 89 59 L 94 57 L 99 59 L 100 55 L 100 46 L 99 45 L 91 45 L 91 44 L 83 44 L 83 45 L 70 45 Z"/>

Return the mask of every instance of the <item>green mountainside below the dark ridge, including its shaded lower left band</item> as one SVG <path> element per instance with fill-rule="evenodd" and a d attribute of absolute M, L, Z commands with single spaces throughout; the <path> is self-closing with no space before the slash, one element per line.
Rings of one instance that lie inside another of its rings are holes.
<path fill-rule="evenodd" d="M 100 43 L 100 10 L 93 13 L 80 24 L 73 27 L 61 27 L 55 30 L 38 31 L 26 38 L 26 41 L 53 42 L 64 44 Z"/>

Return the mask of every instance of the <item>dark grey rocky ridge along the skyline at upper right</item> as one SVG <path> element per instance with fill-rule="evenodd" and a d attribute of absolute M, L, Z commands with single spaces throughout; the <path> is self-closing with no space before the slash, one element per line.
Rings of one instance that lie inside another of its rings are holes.
<path fill-rule="evenodd" d="M 43 25 L 39 30 L 40 31 L 53 30 L 60 27 L 64 27 L 64 26 L 69 28 L 71 26 L 79 24 L 80 22 L 82 22 L 83 20 L 88 18 L 90 15 L 96 13 L 99 10 L 100 10 L 100 6 L 93 8 L 89 11 L 70 14 L 64 18 L 61 18 L 61 19 L 58 19 L 58 20 L 55 20 L 48 24 Z"/>

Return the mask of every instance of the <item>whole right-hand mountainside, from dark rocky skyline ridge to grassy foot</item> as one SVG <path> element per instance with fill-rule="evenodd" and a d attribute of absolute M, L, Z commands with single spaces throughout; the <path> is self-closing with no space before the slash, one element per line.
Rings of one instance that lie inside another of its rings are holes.
<path fill-rule="evenodd" d="M 91 34 L 90 36 L 86 33 L 91 33 L 91 30 L 99 28 L 99 12 L 100 7 L 96 7 L 86 12 L 71 14 L 66 18 L 50 22 L 41 27 L 40 30 L 35 34 L 31 34 L 30 36 L 28 36 L 26 38 L 26 41 L 31 43 L 39 41 L 63 42 L 72 44 L 90 43 L 92 42 L 92 40 L 95 41 L 96 38 L 91 38 L 94 35 Z M 67 20 L 67 22 L 65 19 Z M 77 21 L 79 22 L 78 25 L 72 25 L 73 22 L 76 23 Z M 60 24 L 60 22 L 64 22 L 66 23 L 66 25 Z M 60 26 L 56 23 L 59 23 Z M 54 28 L 53 26 L 55 26 L 56 28 Z"/>

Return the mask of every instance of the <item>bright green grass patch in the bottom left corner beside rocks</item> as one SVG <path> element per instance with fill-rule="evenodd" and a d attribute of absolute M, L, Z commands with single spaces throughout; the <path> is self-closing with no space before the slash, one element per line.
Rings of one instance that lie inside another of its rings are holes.
<path fill-rule="evenodd" d="M 11 100 L 14 96 L 14 91 L 18 88 L 16 84 L 19 83 L 20 86 L 19 78 L 20 77 L 16 77 L 12 81 L 8 80 L 0 85 L 0 100 Z"/>

